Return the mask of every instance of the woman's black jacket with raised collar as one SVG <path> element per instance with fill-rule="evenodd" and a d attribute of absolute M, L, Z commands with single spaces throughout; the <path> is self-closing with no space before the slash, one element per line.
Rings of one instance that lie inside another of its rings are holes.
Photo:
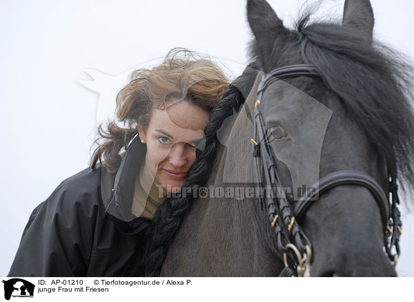
<path fill-rule="evenodd" d="M 30 215 L 8 276 L 139 274 L 150 220 L 131 205 L 145 150 L 136 137 L 116 173 L 88 168 L 61 182 Z"/>

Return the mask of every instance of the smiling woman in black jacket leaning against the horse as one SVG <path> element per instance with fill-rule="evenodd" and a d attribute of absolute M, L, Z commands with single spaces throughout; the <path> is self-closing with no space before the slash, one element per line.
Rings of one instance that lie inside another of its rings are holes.
<path fill-rule="evenodd" d="M 9 276 L 139 275 L 145 231 L 166 196 L 184 185 L 227 88 L 213 62 L 186 50 L 132 73 L 117 95 L 127 128 L 100 127 L 91 167 L 34 209 Z"/>

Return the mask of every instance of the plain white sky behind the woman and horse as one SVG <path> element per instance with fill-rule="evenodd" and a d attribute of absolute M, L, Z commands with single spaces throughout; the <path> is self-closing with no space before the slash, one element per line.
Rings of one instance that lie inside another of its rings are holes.
<path fill-rule="evenodd" d="M 303 2 L 269 1 L 288 26 Z M 375 37 L 413 58 L 413 2 L 371 2 Z M 342 14 L 343 1 L 326 4 Z M 131 68 L 184 46 L 239 75 L 250 41 L 245 10 L 244 0 L 1 1 L 0 276 L 8 274 L 32 209 L 88 166 L 99 94 L 79 84 L 90 79 L 83 70 L 119 76 L 101 79 L 97 89 L 108 90 Z M 413 216 L 403 217 L 400 276 L 414 276 Z"/>

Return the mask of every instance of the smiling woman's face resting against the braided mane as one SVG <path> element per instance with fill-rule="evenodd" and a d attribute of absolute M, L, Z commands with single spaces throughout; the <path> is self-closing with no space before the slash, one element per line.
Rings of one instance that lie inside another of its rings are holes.
<path fill-rule="evenodd" d="M 184 185 L 186 172 L 195 162 L 195 146 L 204 140 L 208 119 L 203 108 L 172 100 L 164 109 L 152 109 L 147 129 L 138 124 L 152 176 L 167 191 L 176 193 Z"/>

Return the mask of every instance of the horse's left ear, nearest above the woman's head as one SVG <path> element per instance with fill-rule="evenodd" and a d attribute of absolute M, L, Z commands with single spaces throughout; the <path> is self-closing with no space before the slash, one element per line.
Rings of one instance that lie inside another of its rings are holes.
<path fill-rule="evenodd" d="M 247 19 L 259 45 L 284 29 L 282 20 L 266 0 L 248 0 Z"/>

